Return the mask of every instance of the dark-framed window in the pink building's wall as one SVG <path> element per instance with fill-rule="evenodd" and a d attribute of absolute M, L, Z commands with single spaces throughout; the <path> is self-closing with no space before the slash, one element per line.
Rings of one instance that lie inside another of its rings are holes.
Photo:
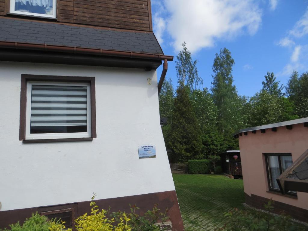
<path fill-rule="evenodd" d="M 291 153 L 265 153 L 264 156 L 269 190 L 280 193 L 277 178 L 293 164 L 292 155 Z M 295 191 L 289 191 L 287 194 L 297 195 Z"/>

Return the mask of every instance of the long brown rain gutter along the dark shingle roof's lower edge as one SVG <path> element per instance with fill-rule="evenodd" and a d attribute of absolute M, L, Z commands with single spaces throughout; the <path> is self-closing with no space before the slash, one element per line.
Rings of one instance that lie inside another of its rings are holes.
<path fill-rule="evenodd" d="M 85 54 L 85 55 L 104 55 L 114 57 L 126 57 L 132 59 L 152 59 L 152 60 L 165 60 L 173 61 L 173 56 L 161 55 L 161 54 L 148 54 L 132 51 L 114 51 L 103 50 L 99 48 L 85 48 L 85 47 L 67 47 L 59 45 L 47 45 L 39 43 L 18 43 L 0 41 L 1 48 L 13 48 L 24 50 L 37 50 L 37 51 L 49 51 L 49 52 L 65 52 L 73 54 Z"/>

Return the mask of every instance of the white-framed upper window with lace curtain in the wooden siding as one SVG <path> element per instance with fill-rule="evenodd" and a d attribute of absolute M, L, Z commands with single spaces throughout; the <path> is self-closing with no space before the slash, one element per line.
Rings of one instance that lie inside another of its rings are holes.
<path fill-rule="evenodd" d="M 10 13 L 56 17 L 56 0 L 10 0 Z"/>

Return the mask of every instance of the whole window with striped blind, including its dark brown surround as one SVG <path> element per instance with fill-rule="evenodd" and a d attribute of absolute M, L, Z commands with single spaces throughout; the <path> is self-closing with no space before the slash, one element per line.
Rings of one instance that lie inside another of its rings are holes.
<path fill-rule="evenodd" d="M 96 138 L 95 78 L 22 75 L 20 134 L 24 143 Z"/>

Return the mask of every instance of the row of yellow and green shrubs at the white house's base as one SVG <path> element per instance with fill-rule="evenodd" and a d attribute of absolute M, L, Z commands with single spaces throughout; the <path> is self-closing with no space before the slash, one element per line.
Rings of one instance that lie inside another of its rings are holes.
<path fill-rule="evenodd" d="M 111 213 L 109 210 L 99 210 L 95 201 L 95 193 L 90 203 L 91 213 L 83 214 L 75 219 L 76 231 L 163 231 L 169 230 L 170 227 L 165 224 L 169 219 L 167 217 L 168 209 L 161 213 L 154 205 L 152 210 L 140 216 L 137 213 L 139 208 L 136 205 L 131 206 L 130 213 L 118 211 Z M 110 208 L 109 208 L 110 209 Z M 160 222 L 160 223 L 159 223 Z M 32 214 L 32 217 L 27 218 L 23 225 L 10 225 L 11 231 L 72 231 L 65 228 L 65 222 L 60 220 L 48 220 L 47 217 L 40 216 L 38 213 Z M 0 229 L 2 231 L 2 229 Z M 4 229 L 3 231 L 9 231 Z"/>

